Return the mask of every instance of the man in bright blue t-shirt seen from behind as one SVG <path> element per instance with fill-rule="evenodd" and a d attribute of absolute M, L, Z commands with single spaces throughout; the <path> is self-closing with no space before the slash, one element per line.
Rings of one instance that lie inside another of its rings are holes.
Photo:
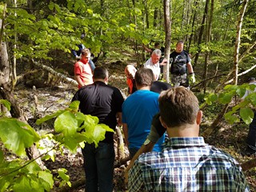
<path fill-rule="evenodd" d="M 159 111 L 159 94 L 150 91 L 153 82 L 152 70 L 147 68 L 137 70 L 135 83 L 138 90 L 126 98 L 122 105 L 122 129 L 130 151 L 130 158 L 136 154 L 146 140 L 146 136 L 150 133 L 153 116 Z M 154 151 L 162 149 L 163 140 L 163 137 L 158 140 Z"/>

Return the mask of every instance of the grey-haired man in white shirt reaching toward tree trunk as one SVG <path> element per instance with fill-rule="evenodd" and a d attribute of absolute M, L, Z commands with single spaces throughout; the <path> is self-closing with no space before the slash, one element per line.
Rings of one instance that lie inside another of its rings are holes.
<path fill-rule="evenodd" d="M 161 63 L 159 62 L 161 54 L 161 50 L 154 50 L 150 58 L 144 63 L 144 68 L 149 68 L 153 71 L 156 81 L 158 81 L 160 75 L 160 66 L 165 66 L 167 62 L 166 58 L 164 58 Z"/>

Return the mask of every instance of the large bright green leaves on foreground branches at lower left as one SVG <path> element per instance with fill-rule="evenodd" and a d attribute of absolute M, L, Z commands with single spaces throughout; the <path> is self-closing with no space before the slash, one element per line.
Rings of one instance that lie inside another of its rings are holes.
<path fill-rule="evenodd" d="M 8 107 L 8 102 L 1 100 Z M 41 170 L 38 164 L 26 158 L 26 148 L 48 138 L 54 142 L 50 150 L 44 150 L 38 158 L 54 161 L 54 148 L 65 146 L 72 152 L 76 152 L 84 142 L 95 143 L 105 138 L 106 131 L 114 132 L 109 126 L 98 124 L 98 118 L 78 112 L 79 102 L 72 102 L 65 110 L 59 110 L 54 114 L 38 119 L 37 123 L 46 122 L 55 118 L 54 131 L 56 134 L 38 135 L 34 129 L 15 118 L 0 118 L 0 140 L 6 150 L 14 154 L 12 160 L 7 160 L 4 152 L 0 150 L 0 191 L 50 191 L 54 186 L 54 179 L 62 178 L 64 183 L 71 186 L 69 176 L 65 169 L 59 169 L 58 178 L 54 178 L 50 170 Z M 38 144 L 39 145 L 39 144 Z M 44 146 L 40 146 L 41 149 Z M 55 171 L 55 170 L 53 170 Z"/>

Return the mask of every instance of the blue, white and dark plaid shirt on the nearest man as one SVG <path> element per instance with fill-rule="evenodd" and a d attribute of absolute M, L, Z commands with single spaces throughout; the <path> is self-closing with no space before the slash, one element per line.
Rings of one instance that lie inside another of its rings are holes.
<path fill-rule="evenodd" d="M 169 138 L 162 152 L 142 154 L 129 171 L 129 191 L 250 191 L 242 168 L 201 137 Z"/>

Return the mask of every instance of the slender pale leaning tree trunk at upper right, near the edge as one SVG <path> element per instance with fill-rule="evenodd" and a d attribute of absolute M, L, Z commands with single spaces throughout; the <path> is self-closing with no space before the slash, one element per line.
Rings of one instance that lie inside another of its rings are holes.
<path fill-rule="evenodd" d="M 242 30 L 242 20 L 246 12 L 246 6 L 248 1 L 249 0 L 244 0 L 242 2 L 242 8 L 240 10 L 240 14 L 238 17 L 237 38 L 235 41 L 235 48 L 234 48 L 234 85 L 238 84 L 238 57 L 239 57 L 239 47 L 240 47 L 240 38 L 241 38 L 241 30 Z"/>

